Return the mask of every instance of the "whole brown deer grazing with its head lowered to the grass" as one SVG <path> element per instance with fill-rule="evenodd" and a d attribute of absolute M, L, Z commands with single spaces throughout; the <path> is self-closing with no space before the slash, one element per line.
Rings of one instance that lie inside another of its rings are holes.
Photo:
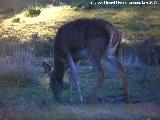
<path fill-rule="evenodd" d="M 96 70 L 98 77 L 90 96 L 90 100 L 95 100 L 105 80 L 101 58 L 106 51 L 107 60 L 115 67 L 123 80 L 124 98 L 128 103 L 127 72 L 118 59 L 120 43 L 121 33 L 111 23 L 102 19 L 78 19 L 63 25 L 55 37 L 54 70 L 51 71 L 51 67 L 43 62 L 43 67 L 50 76 L 50 87 L 56 100 L 59 100 L 61 96 L 65 70 L 70 68 L 70 101 L 73 81 L 78 100 L 83 101 L 75 64 L 85 55 Z"/>

